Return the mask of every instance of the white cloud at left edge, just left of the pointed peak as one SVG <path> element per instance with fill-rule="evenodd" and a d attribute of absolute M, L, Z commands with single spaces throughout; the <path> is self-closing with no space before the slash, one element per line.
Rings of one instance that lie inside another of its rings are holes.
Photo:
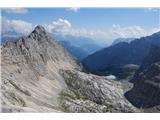
<path fill-rule="evenodd" d="M 1 18 L 2 33 L 14 30 L 17 33 L 28 34 L 33 30 L 32 23 L 25 22 L 22 20 L 9 20 Z"/>

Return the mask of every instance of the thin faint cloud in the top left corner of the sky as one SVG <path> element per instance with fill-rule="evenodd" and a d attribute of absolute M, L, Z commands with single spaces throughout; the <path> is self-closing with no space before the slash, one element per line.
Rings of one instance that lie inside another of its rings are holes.
<path fill-rule="evenodd" d="M 3 11 L 6 13 L 18 13 L 18 14 L 25 14 L 28 12 L 25 8 L 3 8 Z"/>

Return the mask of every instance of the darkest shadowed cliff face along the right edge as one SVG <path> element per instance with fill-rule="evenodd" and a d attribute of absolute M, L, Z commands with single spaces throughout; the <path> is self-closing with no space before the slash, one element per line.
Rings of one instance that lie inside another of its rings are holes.
<path fill-rule="evenodd" d="M 160 46 L 152 46 L 132 81 L 134 87 L 126 93 L 126 97 L 137 107 L 158 110 L 160 105 Z"/>

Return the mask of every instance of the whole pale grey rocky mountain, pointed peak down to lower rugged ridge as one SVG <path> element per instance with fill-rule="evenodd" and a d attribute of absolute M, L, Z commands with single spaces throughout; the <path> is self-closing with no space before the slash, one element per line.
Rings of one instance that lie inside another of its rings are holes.
<path fill-rule="evenodd" d="M 82 72 L 42 26 L 1 53 L 2 112 L 139 112 L 124 85 Z"/>

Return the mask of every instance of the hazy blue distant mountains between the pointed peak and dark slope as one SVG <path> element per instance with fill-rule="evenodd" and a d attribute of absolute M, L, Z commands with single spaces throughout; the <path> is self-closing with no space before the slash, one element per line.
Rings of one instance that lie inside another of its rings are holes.
<path fill-rule="evenodd" d="M 106 46 L 87 37 L 59 34 L 52 34 L 52 36 L 79 61 Z"/>

